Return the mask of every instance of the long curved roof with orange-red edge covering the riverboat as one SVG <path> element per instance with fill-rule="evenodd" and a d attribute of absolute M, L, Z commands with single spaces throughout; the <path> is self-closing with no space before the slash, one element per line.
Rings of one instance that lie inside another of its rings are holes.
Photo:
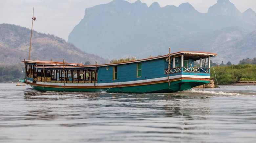
<path fill-rule="evenodd" d="M 193 60 L 199 60 L 200 58 L 208 58 L 208 57 L 213 57 L 217 56 L 217 54 L 213 53 L 205 53 L 205 52 L 176 52 L 170 54 L 170 58 L 179 58 L 181 59 L 181 55 L 184 55 L 186 58 L 190 58 Z M 121 62 L 121 63 L 109 63 L 109 64 L 102 64 L 102 65 L 97 65 L 97 67 L 103 67 L 103 66 L 113 66 L 113 65 L 121 65 L 121 64 L 128 64 L 128 63 L 136 63 L 136 62 L 143 62 L 143 61 L 149 61 L 149 60 L 155 60 L 155 59 L 167 59 L 169 57 L 169 54 L 163 55 L 163 56 L 158 56 L 158 57 L 152 57 L 152 58 L 146 58 L 146 59 L 141 59 L 141 60 L 135 60 L 135 61 L 127 61 L 127 62 Z M 24 60 L 22 60 L 24 62 Z M 51 69 L 59 69 L 63 68 L 63 62 L 54 62 L 54 61 L 41 61 L 41 60 L 27 60 L 25 61 L 26 63 L 31 63 L 32 65 L 36 65 L 36 68 L 43 68 L 43 65 L 47 66 L 47 68 Z M 96 65 L 89 65 L 85 66 L 82 64 L 75 64 L 75 63 L 64 63 L 65 69 L 95 69 Z M 75 67 L 74 67 L 75 66 Z M 45 67 L 46 68 L 46 67 Z"/>

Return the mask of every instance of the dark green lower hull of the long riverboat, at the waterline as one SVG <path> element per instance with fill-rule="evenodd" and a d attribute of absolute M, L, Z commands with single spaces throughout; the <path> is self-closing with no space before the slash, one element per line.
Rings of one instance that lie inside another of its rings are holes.
<path fill-rule="evenodd" d="M 20 81 L 20 80 L 19 80 Z M 24 80 L 23 80 L 24 81 Z M 25 83 L 25 82 L 24 82 Z M 120 86 L 120 87 L 52 87 L 30 84 L 33 89 L 38 91 L 67 91 L 67 92 L 111 92 L 111 93 L 169 93 L 191 89 L 192 87 L 200 86 L 209 83 L 209 81 L 199 80 L 177 80 L 171 81 L 170 86 L 168 81 L 136 85 L 136 86 Z"/>

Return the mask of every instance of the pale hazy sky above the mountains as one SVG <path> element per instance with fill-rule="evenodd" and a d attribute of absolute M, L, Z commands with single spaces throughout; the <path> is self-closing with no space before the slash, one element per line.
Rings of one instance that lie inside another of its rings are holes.
<path fill-rule="evenodd" d="M 32 15 L 36 21 L 33 29 L 37 32 L 54 34 L 68 40 L 69 33 L 84 17 L 85 8 L 106 4 L 112 0 L 0 0 L 0 24 L 15 24 L 31 29 Z M 134 3 L 137 0 L 126 0 Z M 150 6 L 158 2 L 160 7 L 179 6 L 190 3 L 197 11 L 207 13 L 217 0 L 140 0 Z M 256 11 L 256 0 L 229 0 L 242 13 L 248 8 Z"/>

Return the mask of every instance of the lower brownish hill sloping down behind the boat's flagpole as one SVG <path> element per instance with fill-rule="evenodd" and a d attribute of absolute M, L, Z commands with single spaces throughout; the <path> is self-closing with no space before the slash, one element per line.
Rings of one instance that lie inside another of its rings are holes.
<path fill-rule="evenodd" d="M 18 64 L 21 60 L 28 60 L 31 29 L 12 24 L 0 24 L 0 64 Z M 76 48 L 65 40 L 32 32 L 31 60 L 51 60 L 71 63 L 103 64 L 108 60 L 88 54 Z"/>

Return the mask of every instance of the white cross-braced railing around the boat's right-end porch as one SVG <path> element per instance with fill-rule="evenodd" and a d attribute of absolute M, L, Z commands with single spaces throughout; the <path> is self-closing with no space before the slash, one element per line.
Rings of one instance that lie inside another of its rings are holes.
<path fill-rule="evenodd" d="M 164 70 L 164 74 L 177 73 L 177 72 L 201 72 L 201 73 L 210 73 L 209 68 L 197 68 L 197 67 L 177 67 Z"/>

